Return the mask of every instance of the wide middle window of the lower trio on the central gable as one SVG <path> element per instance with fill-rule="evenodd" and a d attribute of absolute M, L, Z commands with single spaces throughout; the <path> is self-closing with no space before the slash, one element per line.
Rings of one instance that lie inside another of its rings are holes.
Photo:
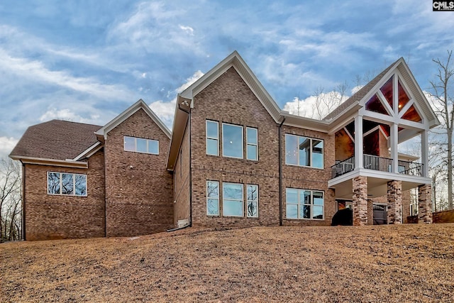
<path fill-rule="evenodd" d="M 222 214 L 223 216 L 243 216 L 243 184 L 222 184 Z"/>

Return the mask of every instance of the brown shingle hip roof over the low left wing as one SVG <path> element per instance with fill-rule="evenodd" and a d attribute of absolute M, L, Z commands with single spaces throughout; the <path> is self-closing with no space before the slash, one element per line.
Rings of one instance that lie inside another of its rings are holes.
<path fill-rule="evenodd" d="M 74 159 L 96 143 L 94 132 L 99 128 L 101 126 L 61 120 L 30 126 L 10 157 Z"/>

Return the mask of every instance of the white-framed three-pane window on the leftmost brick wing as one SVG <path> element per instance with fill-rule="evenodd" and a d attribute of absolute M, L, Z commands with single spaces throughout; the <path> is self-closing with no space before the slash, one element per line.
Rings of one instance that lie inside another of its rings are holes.
<path fill-rule="evenodd" d="M 87 175 L 48 172 L 48 194 L 87 196 Z"/>

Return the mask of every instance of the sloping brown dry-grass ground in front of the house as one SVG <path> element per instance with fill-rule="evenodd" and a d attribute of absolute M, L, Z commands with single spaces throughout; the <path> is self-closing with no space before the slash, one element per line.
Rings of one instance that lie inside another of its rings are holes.
<path fill-rule="evenodd" d="M 453 302 L 454 224 L 0 244 L 0 302 Z"/>

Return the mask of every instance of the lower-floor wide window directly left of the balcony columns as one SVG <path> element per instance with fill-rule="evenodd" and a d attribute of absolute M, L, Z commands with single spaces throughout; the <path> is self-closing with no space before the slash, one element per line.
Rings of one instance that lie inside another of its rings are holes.
<path fill-rule="evenodd" d="M 287 219 L 323 219 L 323 192 L 308 189 L 285 189 Z"/>

